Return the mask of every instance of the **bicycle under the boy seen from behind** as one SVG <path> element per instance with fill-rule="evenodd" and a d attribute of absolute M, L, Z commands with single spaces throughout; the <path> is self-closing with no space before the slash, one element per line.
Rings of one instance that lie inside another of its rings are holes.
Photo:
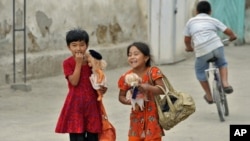
<path fill-rule="evenodd" d="M 229 39 L 222 40 L 222 42 L 225 44 Z M 220 121 L 225 121 L 225 116 L 229 115 L 229 107 L 228 107 L 228 101 L 227 101 L 227 95 L 223 90 L 221 77 L 219 68 L 215 66 L 216 57 L 213 57 L 209 59 L 207 62 L 210 63 L 210 67 L 205 70 L 207 80 L 210 78 L 210 73 L 213 74 L 212 79 L 212 88 L 209 85 L 210 89 L 212 90 L 212 98 L 214 103 L 216 103 L 218 115 L 220 118 Z"/>

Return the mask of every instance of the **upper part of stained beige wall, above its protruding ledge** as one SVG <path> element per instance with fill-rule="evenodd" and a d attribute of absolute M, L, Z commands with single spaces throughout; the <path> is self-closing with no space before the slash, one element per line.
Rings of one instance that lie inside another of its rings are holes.
<path fill-rule="evenodd" d="M 23 27 L 23 0 L 16 1 L 16 24 Z M 73 27 L 85 28 L 90 45 L 145 40 L 147 33 L 146 1 L 127 0 L 26 0 L 28 52 L 64 49 L 65 32 Z M 1 40 L 12 40 L 12 0 L 0 1 Z M 22 36 L 17 35 L 17 36 Z M 108 47 L 108 46 L 107 46 Z M 19 48 L 18 48 L 19 49 Z M 20 47 L 20 50 L 22 48 Z"/>

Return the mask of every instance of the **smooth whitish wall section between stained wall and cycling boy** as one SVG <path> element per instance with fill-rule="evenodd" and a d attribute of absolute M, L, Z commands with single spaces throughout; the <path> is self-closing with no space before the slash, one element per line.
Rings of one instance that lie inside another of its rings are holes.
<path fill-rule="evenodd" d="M 149 1 L 149 41 L 157 64 L 185 59 L 183 29 L 191 17 L 195 1 Z"/>

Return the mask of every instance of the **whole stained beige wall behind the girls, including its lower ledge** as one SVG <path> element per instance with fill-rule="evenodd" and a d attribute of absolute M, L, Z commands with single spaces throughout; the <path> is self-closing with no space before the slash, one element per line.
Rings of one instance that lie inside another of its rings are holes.
<path fill-rule="evenodd" d="M 101 50 L 107 69 L 126 65 L 125 47 L 147 40 L 147 1 L 142 0 L 26 0 L 27 77 L 62 73 L 62 60 L 70 55 L 65 35 L 84 28 L 90 48 Z M 16 29 L 24 27 L 24 0 L 15 0 Z M 0 85 L 13 82 L 13 1 L 0 1 Z M 23 32 L 16 32 L 16 81 L 24 80 Z M 122 44 L 124 43 L 124 44 Z M 119 58 L 119 61 L 115 61 Z"/>

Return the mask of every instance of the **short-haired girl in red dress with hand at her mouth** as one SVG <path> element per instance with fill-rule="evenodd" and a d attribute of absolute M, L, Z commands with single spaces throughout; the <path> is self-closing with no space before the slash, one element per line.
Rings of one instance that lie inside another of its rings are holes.
<path fill-rule="evenodd" d="M 85 52 L 89 35 L 80 28 L 67 32 L 67 47 L 72 56 L 63 61 L 63 72 L 68 82 L 68 95 L 65 99 L 56 133 L 69 133 L 70 141 L 98 141 L 102 131 L 100 102 L 97 92 L 89 80 L 92 74 Z M 107 90 L 101 86 L 102 94 Z"/>

